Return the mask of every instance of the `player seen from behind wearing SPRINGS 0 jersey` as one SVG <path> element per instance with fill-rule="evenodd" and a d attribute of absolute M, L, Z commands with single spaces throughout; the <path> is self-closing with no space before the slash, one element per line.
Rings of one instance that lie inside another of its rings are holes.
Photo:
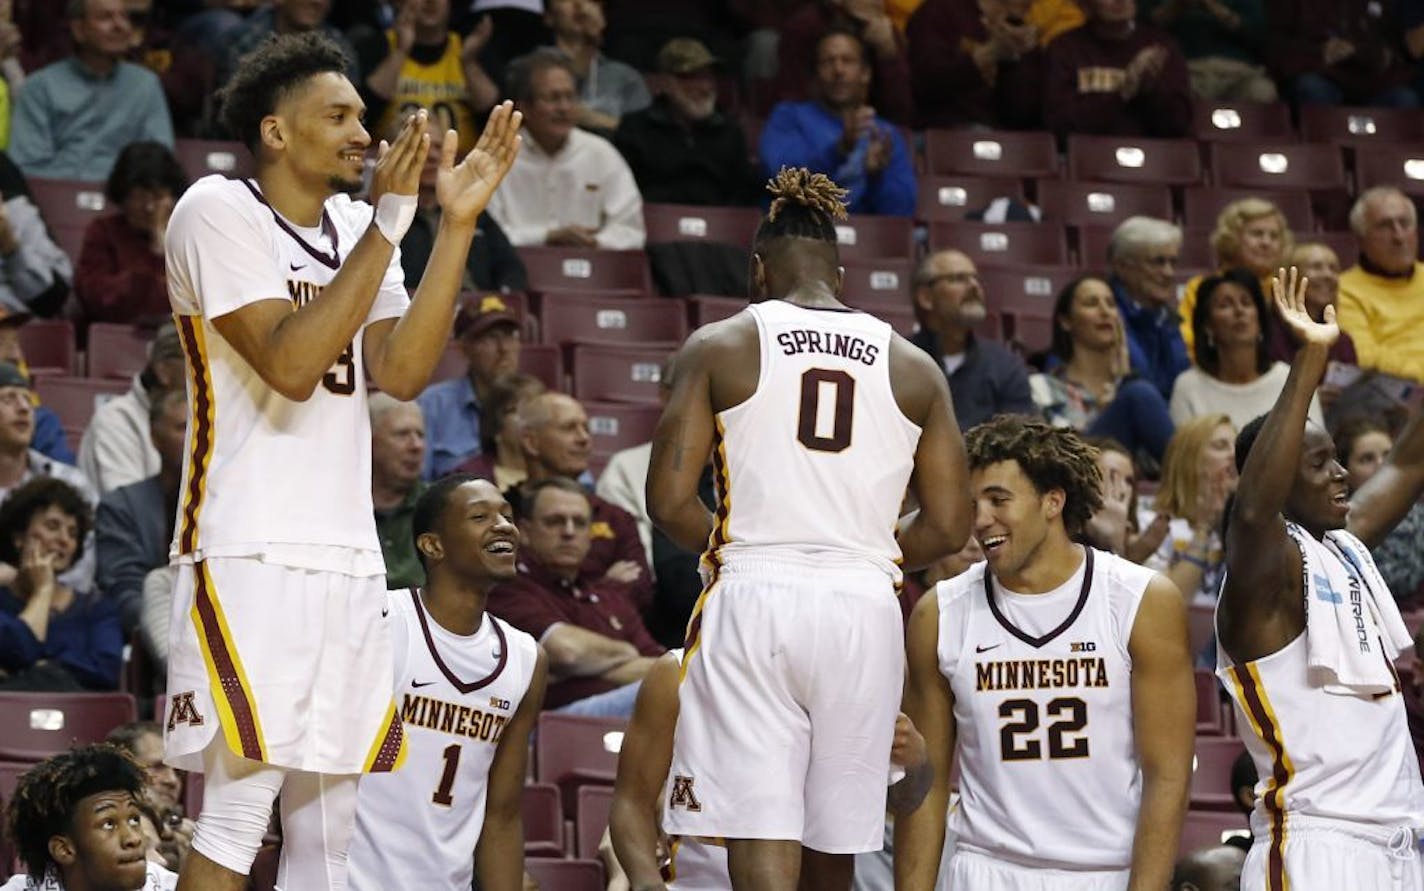
<path fill-rule="evenodd" d="M 753 303 L 689 337 L 652 444 L 649 514 L 705 549 L 706 582 L 665 824 L 726 838 L 738 891 L 795 888 L 803 867 L 833 890 L 884 840 L 894 585 L 901 561 L 963 545 L 964 445 L 934 362 L 839 300 L 844 191 L 802 168 L 769 188 Z M 698 500 L 709 454 L 716 515 Z M 920 510 L 897 537 L 907 485 Z"/>

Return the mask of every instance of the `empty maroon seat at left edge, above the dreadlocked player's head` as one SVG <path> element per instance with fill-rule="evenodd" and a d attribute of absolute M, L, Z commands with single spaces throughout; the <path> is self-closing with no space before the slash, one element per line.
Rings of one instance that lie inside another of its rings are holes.
<path fill-rule="evenodd" d="M 0 692 L 0 760 L 40 761 L 137 719 L 128 693 Z"/>

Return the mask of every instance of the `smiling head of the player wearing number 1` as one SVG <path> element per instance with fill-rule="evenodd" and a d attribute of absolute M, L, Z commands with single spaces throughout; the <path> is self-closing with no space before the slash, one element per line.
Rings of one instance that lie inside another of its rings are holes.
<path fill-rule="evenodd" d="M 488 480 L 471 480 L 450 492 L 440 514 L 436 538 L 440 565 L 456 578 L 514 578 L 520 529 L 514 525 L 510 502 Z M 424 551 L 433 542 L 417 544 Z"/>

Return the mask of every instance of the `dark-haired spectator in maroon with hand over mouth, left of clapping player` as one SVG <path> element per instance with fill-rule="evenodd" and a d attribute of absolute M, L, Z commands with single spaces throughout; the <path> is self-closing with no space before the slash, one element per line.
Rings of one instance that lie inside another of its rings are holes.
<path fill-rule="evenodd" d="M 118 154 L 104 194 L 117 212 L 84 232 L 74 293 L 85 322 L 142 323 L 167 317 L 164 233 L 188 178 L 159 142 L 132 142 Z"/>

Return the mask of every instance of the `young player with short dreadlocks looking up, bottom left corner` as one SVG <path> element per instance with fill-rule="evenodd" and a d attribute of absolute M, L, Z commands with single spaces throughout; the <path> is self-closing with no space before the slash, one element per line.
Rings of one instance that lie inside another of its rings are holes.
<path fill-rule="evenodd" d="M 0 890 L 171 891 L 178 877 L 144 858 L 144 769 L 110 744 L 36 764 L 7 811 L 26 872 Z"/>

